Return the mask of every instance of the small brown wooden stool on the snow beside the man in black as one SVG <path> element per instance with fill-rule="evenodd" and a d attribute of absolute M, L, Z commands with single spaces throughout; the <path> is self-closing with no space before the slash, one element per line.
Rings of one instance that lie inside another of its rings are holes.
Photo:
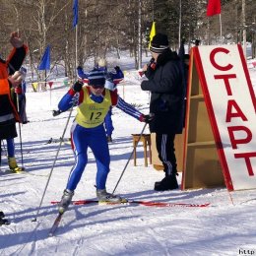
<path fill-rule="evenodd" d="M 148 166 L 148 146 L 149 146 L 149 153 L 150 153 L 150 163 L 152 163 L 152 154 L 151 154 L 151 135 L 150 134 L 142 134 L 140 138 L 140 134 L 132 134 L 133 136 L 133 148 L 134 148 L 134 166 L 136 166 L 136 147 L 137 144 L 140 141 L 143 143 L 143 148 L 144 148 L 144 162 L 145 166 Z"/>

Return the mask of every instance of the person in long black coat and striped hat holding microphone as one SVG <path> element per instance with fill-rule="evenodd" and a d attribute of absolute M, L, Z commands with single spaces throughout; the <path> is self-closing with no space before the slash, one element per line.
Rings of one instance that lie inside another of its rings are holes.
<path fill-rule="evenodd" d="M 141 84 L 143 91 L 151 92 L 150 131 L 156 133 L 159 158 L 165 177 L 155 183 L 155 190 L 178 188 L 177 164 L 174 149 L 175 135 L 182 133 L 184 115 L 184 70 L 176 52 L 168 46 L 168 38 L 157 33 L 151 41 L 152 60 L 143 67 L 148 78 Z"/>

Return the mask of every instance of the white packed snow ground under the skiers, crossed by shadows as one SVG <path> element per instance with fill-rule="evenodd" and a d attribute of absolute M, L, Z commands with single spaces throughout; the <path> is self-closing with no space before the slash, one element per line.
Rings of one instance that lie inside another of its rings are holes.
<path fill-rule="evenodd" d="M 248 65 L 254 89 L 256 69 Z M 140 89 L 141 78 L 129 70 L 118 86 L 119 95 L 143 113 L 149 112 L 149 94 Z M 27 93 L 30 123 L 22 125 L 24 173 L 10 173 L 6 156 L 0 171 L 0 211 L 9 225 L 0 226 L 0 255 L 245 255 L 256 253 L 256 191 L 227 192 L 224 187 L 156 192 L 154 183 L 163 177 L 152 165 L 144 166 L 143 147 L 138 146 L 137 166 L 130 160 L 115 191 L 129 200 L 206 204 L 208 207 L 148 207 L 140 204 L 71 205 L 54 232 L 50 227 L 58 212 L 52 201 L 60 200 L 74 155 L 68 142 L 62 144 L 46 193 L 40 200 L 56 157 L 69 112 L 56 117 L 61 96 L 68 88 L 53 84 L 52 90 Z M 76 109 L 71 113 L 69 131 Z M 113 110 L 113 142 L 107 190 L 113 191 L 132 150 L 131 134 L 139 134 L 144 123 Z M 149 133 L 148 127 L 146 133 Z M 56 142 L 48 144 L 53 138 Z M 20 141 L 16 155 L 21 164 Z M 207 171 L 207 169 L 206 169 Z M 178 182 L 181 182 L 181 173 Z M 96 200 L 96 162 L 89 163 L 73 200 Z M 32 220 L 36 217 L 36 222 Z"/>

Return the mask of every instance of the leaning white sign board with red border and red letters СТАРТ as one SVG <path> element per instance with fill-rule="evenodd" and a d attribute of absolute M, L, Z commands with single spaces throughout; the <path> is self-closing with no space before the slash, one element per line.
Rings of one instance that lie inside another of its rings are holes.
<path fill-rule="evenodd" d="M 192 55 L 225 185 L 228 190 L 256 188 L 256 97 L 242 48 L 198 46 Z"/>

